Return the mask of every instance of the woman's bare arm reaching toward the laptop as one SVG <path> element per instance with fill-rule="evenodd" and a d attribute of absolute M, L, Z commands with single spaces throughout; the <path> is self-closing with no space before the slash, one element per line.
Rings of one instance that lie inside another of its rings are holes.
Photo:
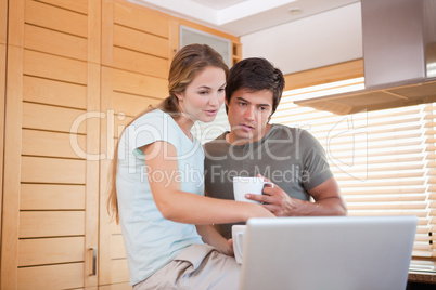
<path fill-rule="evenodd" d="M 215 199 L 180 190 L 176 148 L 163 141 L 141 147 L 145 156 L 148 175 L 162 172 L 158 181 L 149 177 L 154 201 L 163 216 L 174 222 L 206 225 L 246 222 L 249 217 L 272 217 L 259 205 Z M 164 179 L 162 180 L 162 176 Z"/>

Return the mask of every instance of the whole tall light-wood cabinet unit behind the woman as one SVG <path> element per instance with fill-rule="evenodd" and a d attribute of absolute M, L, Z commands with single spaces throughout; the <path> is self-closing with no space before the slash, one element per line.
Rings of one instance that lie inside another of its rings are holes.
<path fill-rule="evenodd" d="M 125 0 L 0 0 L 1 289 L 131 289 L 108 171 L 168 95 L 181 23 L 198 29 Z"/>

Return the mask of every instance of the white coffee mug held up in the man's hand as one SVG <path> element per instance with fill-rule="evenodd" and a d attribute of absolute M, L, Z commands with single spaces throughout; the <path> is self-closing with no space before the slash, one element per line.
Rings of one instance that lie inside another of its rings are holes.
<path fill-rule="evenodd" d="M 233 177 L 233 194 L 234 200 L 246 201 L 253 203 L 260 203 L 259 201 L 246 199 L 246 194 L 261 195 L 264 186 L 266 184 L 274 187 L 274 184 L 267 182 L 264 177 L 246 177 L 246 176 L 234 176 Z"/>

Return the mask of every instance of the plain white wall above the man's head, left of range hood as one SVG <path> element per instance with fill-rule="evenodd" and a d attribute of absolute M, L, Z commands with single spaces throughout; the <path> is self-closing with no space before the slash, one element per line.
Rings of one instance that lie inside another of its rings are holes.
<path fill-rule="evenodd" d="M 362 57 L 360 2 L 241 37 L 242 56 L 284 75 Z"/>

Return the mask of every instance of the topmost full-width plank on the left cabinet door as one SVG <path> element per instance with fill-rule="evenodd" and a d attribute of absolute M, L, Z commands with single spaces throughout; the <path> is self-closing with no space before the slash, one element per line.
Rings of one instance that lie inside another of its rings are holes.
<path fill-rule="evenodd" d="M 33 0 L 26 0 L 25 22 L 84 38 L 88 36 L 86 15 Z"/>

